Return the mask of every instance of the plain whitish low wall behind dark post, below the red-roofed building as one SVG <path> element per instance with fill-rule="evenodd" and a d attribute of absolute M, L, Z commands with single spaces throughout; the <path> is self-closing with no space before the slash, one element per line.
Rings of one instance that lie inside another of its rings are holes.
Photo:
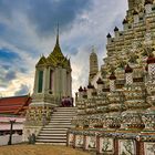
<path fill-rule="evenodd" d="M 0 136 L 0 146 L 8 145 L 9 135 Z M 12 144 L 18 144 L 22 142 L 22 135 L 13 134 L 12 135 Z"/>

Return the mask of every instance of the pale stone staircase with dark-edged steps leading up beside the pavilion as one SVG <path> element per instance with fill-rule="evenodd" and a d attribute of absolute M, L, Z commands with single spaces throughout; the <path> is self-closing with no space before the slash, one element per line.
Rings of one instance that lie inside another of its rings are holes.
<path fill-rule="evenodd" d="M 74 127 L 71 120 L 76 114 L 76 107 L 55 107 L 51 121 L 39 133 L 37 144 L 66 145 L 66 131 Z"/>

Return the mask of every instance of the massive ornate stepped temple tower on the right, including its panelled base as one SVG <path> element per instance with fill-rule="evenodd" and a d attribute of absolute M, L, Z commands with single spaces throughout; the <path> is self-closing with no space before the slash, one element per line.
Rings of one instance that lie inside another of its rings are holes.
<path fill-rule="evenodd" d="M 155 1 L 127 1 L 123 30 L 107 34 L 99 79 L 96 54 L 90 56 L 89 85 L 76 95 L 69 146 L 101 155 L 155 153 Z"/>

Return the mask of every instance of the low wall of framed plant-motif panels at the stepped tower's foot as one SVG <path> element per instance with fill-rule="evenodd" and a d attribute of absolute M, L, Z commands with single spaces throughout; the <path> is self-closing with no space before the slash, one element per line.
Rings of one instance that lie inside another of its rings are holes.
<path fill-rule="evenodd" d="M 68 131 L 68 146 L 97 155 L 155 155 L 155 133 Z"/>

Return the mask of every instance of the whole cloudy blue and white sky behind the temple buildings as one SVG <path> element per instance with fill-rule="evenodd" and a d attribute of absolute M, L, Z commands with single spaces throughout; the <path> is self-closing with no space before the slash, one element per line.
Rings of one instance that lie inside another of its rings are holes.
<path fill-rule="evenodd" d="M 58 22 L 73 93 L 86 85 L 92 45 L 102 64 L 106 34 L 122 29 L 126 9 L 127 0 L 0 0 L 0 96 L 32 93 L 35 63 L 52 52 Z"/>

